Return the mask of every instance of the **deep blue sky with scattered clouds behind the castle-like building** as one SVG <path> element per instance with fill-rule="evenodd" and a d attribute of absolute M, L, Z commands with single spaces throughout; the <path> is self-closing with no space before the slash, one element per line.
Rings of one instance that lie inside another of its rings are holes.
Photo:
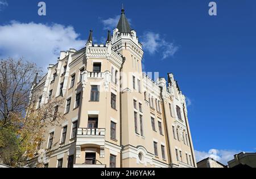
<path fill-rule="evenodd" d="M 38 15 L 38 2 L 0 0 L 0 58 L 46 67 L 60 50 L 83 46 L 89 29 L 104 42 L 123 3 L 145 44 L 144 70 L 174 73 L 188 97 L 197 159 L 211 149 L 224 163 L 255 152 L 256 1 L 215 1 L 217 16 L 205 0 L 44 1 L 46 16 Z"/>

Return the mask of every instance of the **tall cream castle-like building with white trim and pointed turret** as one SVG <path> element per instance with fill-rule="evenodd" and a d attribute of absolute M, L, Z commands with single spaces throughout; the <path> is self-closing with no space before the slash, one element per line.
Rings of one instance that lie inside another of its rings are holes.
<path fill-rule="evenodd" d="M 67 121 L 46 126 L 40 145 L 45 167 L 196 167 L 185 96 L 173 74 L 168 84 L 142 74 L 142 57 L 125 10 L 106 44 L 90 31 L 84 48 L 61 52 L 32 90 L 43 91 L 38 106 L 65 100 Z"/>

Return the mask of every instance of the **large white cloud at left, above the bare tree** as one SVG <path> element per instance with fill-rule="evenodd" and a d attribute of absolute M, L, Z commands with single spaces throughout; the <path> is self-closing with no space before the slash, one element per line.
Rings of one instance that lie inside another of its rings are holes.
<path fill-rule="evenodd" d="M 23 57 L 46 67 L 57 62 L 61 50 L 79 50 L 84 45 L 71 26 L 14 21 L 0 25 L 0 58 Z"/>

